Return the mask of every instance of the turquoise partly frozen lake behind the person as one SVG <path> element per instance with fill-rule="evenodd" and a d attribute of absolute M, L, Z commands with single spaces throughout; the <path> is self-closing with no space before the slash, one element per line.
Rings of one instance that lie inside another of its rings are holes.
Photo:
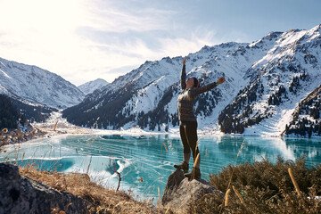
<path fill-rule="evenodd" d="M 242 147 L 242 149 L 240 149 Z M 305 156 L 308 167 L 321 163 L 321 139 L 281 139 L 243 136 L 200 138 L 202 178 L 229 164 L 276 161 L 278 156 L 295 161 Z M 0 161 L 14 161 L 38 169 L 88 173 L 101 185 L 132 192 L 156 202 L 164 190 L 174 163 L 182 160 L 177 136 L 55 136 L 4 147 Z M 192 161 L 192 160 L 191 160 Z M 193 164 L 190 164 L 190 168 Z"/>

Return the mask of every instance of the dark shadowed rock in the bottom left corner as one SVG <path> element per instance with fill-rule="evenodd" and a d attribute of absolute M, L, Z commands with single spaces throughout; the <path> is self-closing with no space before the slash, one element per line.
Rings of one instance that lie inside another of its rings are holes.
<path fill-rule="evenodd" d="M 0 214 L 87 213 L 86 202 L 70 193 L 63 193 L 27 177 L 21 177 L 16 166 L 0 163 Z"/>

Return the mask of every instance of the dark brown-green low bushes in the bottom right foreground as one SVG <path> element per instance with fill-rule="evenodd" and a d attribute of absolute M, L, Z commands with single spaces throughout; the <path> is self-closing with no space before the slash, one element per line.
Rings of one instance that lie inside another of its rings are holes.
<path fill-rule="evenodd" d="M 197 213 L 321 213 L 321 199 L 317 198 L 321 195 L 321 165 L 308 169 L 303 158 L 296 162 L 279 158 L 276 164 L 259 161 L 228 166 L 218 175 L 212 175 L 210 183 L 228 195 L 225 202 L 217 195 L 208 194 L 193 202 L 190 210 L 198 210 Z"/>

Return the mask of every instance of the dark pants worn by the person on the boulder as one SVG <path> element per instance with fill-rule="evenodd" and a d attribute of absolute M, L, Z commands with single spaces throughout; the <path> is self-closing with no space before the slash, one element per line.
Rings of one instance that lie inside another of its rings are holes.
<path fill-rule="evenodd" d="M 197 144 L 197 122 L 196 121 L 181 121 L 179 125 L 179 134 L 182 139 L 184 153 L 193 153 L 193 161 L 195 161 L 199 153 Z"/>

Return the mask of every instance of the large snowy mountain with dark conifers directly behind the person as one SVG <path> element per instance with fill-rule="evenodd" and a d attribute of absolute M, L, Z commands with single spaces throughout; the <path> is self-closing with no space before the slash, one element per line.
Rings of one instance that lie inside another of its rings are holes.
<path fill-rule="evenodd" d="M 258 41 L 204 46 L 187 56 L 187 76 L 226 82 L 195 103 L 199 127 L 280 135 L 298 103 L 321 84 L 321 25 L 272 32 Z M 168 130 L 178 125 L 182 57 L 145 62 L 63 112 L 77 125 Z M 320 120 L 317 120 L 320 124 Z"/>

